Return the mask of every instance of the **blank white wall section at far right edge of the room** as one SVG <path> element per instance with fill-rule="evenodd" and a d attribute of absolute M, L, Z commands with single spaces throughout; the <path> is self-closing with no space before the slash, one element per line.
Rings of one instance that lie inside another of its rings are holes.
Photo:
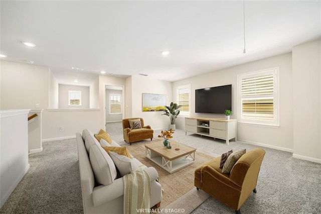
<path fill-rule="evenodd" d="M 293 157 L 321 163 L 321 40 L 293 47 Z"/>

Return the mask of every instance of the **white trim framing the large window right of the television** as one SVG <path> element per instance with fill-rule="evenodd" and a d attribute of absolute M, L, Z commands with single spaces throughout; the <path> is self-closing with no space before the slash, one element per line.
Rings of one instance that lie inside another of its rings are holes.
<path fill-rule="evenodd" d="M 273 74 L 273 85 L 274 85 L 274 92 L 273 92 L 273 114 L 274 120 L 273 121 L 260 121 L 260 120 L 248 120 L 242 119 L 242 95 L 241 95 L 241 81 L 243 78 L 255 77 L 255 76 L 263 76 L 266 74 Z M 248 72 L 243 74 L 237 75 L 237 120 L 238 123 L 244 123 L 249 125 L 258 125 L 258 126 L 272 126 L 272 127 L 279 127 L 280 125 L 280 101 L 279 101 L 279 67 L 268 68 L 264 70 Z"/>

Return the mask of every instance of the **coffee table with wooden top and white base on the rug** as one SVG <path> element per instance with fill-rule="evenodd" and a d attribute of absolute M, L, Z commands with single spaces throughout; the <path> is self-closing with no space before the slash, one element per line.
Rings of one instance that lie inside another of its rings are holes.
<path fill-rule="evenodd" d="M 171 140 L 172 149 L 168 149 L 164 146 L 163 141 L 153 140 L 152 143 L 145 144 L 145 155 L 149 160 L 169 173 L 194 163 L 195 148 L 180 144 L 180 150 L 175 150 L 177 142 Z"/>

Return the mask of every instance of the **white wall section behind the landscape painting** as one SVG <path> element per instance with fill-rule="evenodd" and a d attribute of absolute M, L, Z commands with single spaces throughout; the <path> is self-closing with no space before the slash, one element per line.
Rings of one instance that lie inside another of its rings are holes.
<path fill-rule="evenodd" d="M 131 80 L 131 117 L 143 118 L 144 124 L 150 125 L 154 130 L 168 129 L 171 122 L 167 116 L 162 116 L 163 112 L 142 112 L 142 93 L 166 94 L 166 105 L 170 105 L 173 101 L 172 82 L 138 75 L 132 76 Z"/>

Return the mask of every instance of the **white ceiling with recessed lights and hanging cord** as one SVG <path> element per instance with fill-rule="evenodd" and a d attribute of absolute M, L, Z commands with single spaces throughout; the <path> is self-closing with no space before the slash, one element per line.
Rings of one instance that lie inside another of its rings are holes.
<path fill-rule="evenodd" d="M 0 53 L 8 56 L 2 59 L 48 66 L 64 84 L 90 84 L 102 70 L 175 81 L 287 53 L 321 37 L 320 1 L 245 1 L 245 54 L 243 1 L 0 4 Z M 170 54 L 163 56 L 164 50 Z"/>

